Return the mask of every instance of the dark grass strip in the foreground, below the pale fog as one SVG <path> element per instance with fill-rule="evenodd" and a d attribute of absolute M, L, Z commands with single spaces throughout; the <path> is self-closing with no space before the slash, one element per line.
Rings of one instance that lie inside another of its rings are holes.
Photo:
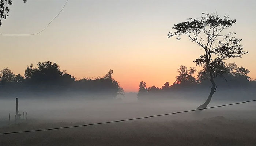
<path fill-rule="evenodd" d="M 86 123 L 29 123 L 0 132 L 35 130 Z M 256 121 L 222 116 L 193 121 L 120 122 L 88 127 L 0 135 L 0 145 L 256 145 Z"/>

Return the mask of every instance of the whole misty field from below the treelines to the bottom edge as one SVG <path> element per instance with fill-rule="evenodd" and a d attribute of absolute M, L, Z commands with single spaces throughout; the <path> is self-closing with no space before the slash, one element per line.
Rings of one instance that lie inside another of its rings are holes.
<path fill-rule="evenodd" d="M 15 100 L 1 100 L 0 133 L 75 126 L 195 109 L 198 101 L 19 100 L 28 119 L 15 124 Z M 213 102 L 210 106 L 232 103 Z M 8 126 L 8 114 L 11 123 Z M 0 135 L 0 145 L 256 145 L 255 102 L 148 119 Z"/>

